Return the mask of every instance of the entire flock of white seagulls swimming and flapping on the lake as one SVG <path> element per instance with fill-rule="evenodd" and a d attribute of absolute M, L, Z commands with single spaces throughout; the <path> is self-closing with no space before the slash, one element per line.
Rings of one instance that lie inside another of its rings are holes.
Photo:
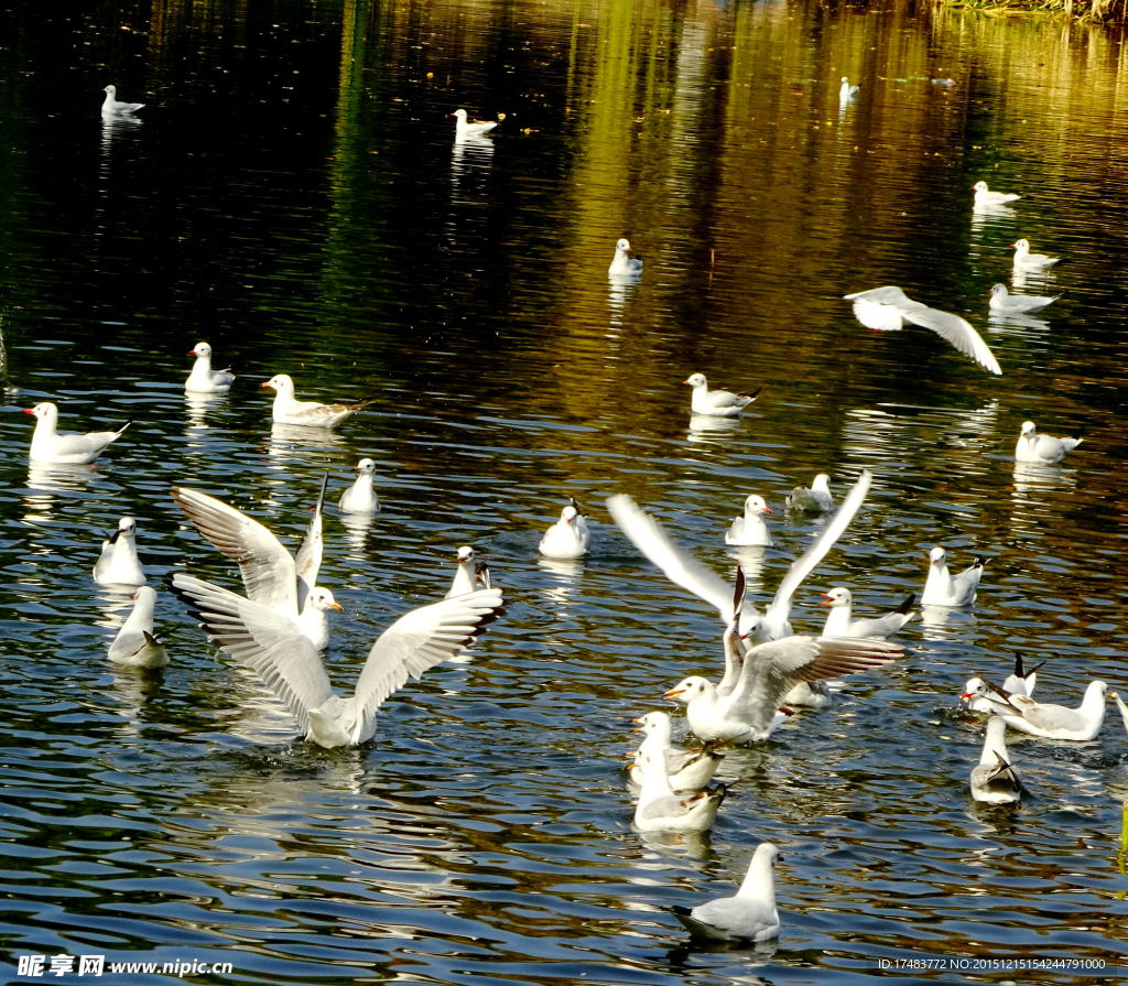
<path fill-rule="evenodd" d="M 854 100 L 858 91 L 858 86 L 851 86 L 843 78 L 843 104 Z M 104 116 L 132 115 L 143 106 L 117 102 L 113 86 L 107 86 L 105 94 Z M 470 122 L 464 109 L 451 115 L 456 118 L 459 141 L 482 140 L 496 126 L 495 122 Z M 975 206 L 981 210 L 1003 209 L 1020 197 L 993 192 L 985 182 L 975 185 Z M 1025 239 L 1019 239 L 1013 248 L 1015 272 L 1045 273 L 1059 259 L 1030 253 Z M 608 268 L 613 281 L 641 279 L 643 263 L 631 257 L 631 252 L 627 239 L 616 243 Z M 1057 300 L 1012 296 L 1005 284 L 996 284 L 990 293 L 992 310 L 1004 312 L 1029 312 Z M 870 328 L 899 329 L 906 323 L 928 328 L 984 369 L 1002 373 L 982 338 L 960 316 L 914 301 L 896 287 L 858 291 L 845 298 L 853 302 L 857 319 Z M 230 391 L 236 377 L 230 369 L 212 368 L 212 349 L 208 343 L 197 343 L 191 354 L 196 359 L 185 382 L 187 393 Z M 711 390 L 703 373 L 693 373 L 684 382 L 691 387 L 690 412 L 713 417 L 738 417 L 760 393 Z M 335 428 L 371 403 L 299 400 L 294 382 L 285 373 L 262 386 L 275 391 L 273 421 L 301 428 Z M 58 431 L 59 408 L 53 403 L 37 404 L 26 413 L 36 417 L 29 456 L 37 464 L 94 463 L 131 423 L 116 431 L 70 434 Z M 1028 421 L 1022 425 L 1015 459 L 1055 465 L 1081 441 L 1079 435 L 1039 434 Z M 361 459 L 355 472 L 355 482 L 341 494 L 341 512 L 378 512 L 380 503 L 373 490 L 376 463 Z M 329 641 L 327 614 L 341 609 L 332 592 L 317 586 L 324 551 L 321 527 L 327 482 L 326 476 L 297 554 L 291 554 L 264 525 L 235 507 L 196 490 L 173 487 L 171 498 L 188 521 L 238 566 L 244 592 L 186 572 L 177 572 L 171 587 L 209 640 L 257 674 L 293 714 L 306 738 L 333 748 L 371 739 L 380 705 L 408 678 L 418 678 L 469 648 L 502 613 L 503 595 L 493 588 L 488 566 L 477 562 L 474 549 L 459 548 L 453 581 L 446 596 L 393 623 L 373 643 L 353 694 L 347 697 L 337 694 L 320 657 Z M 728 745 L 761 741 L 800 710 L 831 704 L 834 693 L 826 684 L 829 679 L 873 671 L 904 655 L 904 649 L 887 637 L 911 619 L 915 595 L 891 613 L 855 619 L 851 590 L 835 587 L 823 593 L 822 605 L 829 609 L 821 635 L 796 635 L 792 630 L 790 610 L 795 591 L 845 532 L 865 499 L 872 476 L 863 472 L 837 509 L 829 482 L 827 474 L 819 474 L 809 488 L 796 487 L 786 499 L 788 511 L 832 516 L 802 557 L 792 564 L 763 613 L 746 598 L 747 582 L 741 566 L 737 567 L 735 584 L 728 586 L 676 545 L 661 525 L 631 498 L 616 495 L 608 500 L 608 511 L 635 547 L 672 582 L 714 606 L 722 625 L 724 668 L 720 679 L 713 683 L 693 675 L 664 693 L 666 699 L 685 706 L 685 723 L 700 743 L 675 746 L 675 724 L 664 712 L 650 712 L 635 720 L 636 731 L 645 734 L 629 766 L 629 780 L 638 789 L 634 821 L 640 830 L 708 830 L 729 787 L 723 781 L 710 786 L 722 768 Z M 772 510 L 765 500 L 750 494 L 744 500 L 743 514 L 725 532 L 724 543 L 772 546 L 766 514 L 772 514 Z M 559 520 L 545 531 L 539 551 L 546 557 L 576 558 L 588 553 L 591 540 L 588 520 L 573 499 L 563 508 Z M 984 565 L 985 560 L 976 556 L 970 567 L 952 574 L 946 552 L 933 548 L 922 605 L 972 606 Z M 131 517 L 122 517 L 117 529 L 103 543 L 94 579 L 100 586 L 136 587 L 133 609 L 109 645 L 109 659 L 136 668 L 167 664 L 166 646 L 153 627 L 157 593 L 146 584 L 138 555 L 136 525 Z M 1031 736 L 1074 741 L 1090 740 L 1101 728 L 1108 693 L 1103 681 L 1092 681 L 1079 707 L 1068 708 L 1034 699 L 1037 669 L 1024 674 L 1020 657 L 1014 675 L 1003 686 L 993 685 L 981 674 L 964 686 L 961 704 L 990 716 L 982 756 L 970 776 L 971 794 L 978 801 L 1006 803 L 1021 798 L 1022 778 L 1005 742 L 1008 727 Z M 1128 706 L 1118 695 L 1113 697 L 1128 728 Z M 759 942 L 775 937 L 779 933 L 779 916 L 774 870 L 781 859 L 775 845 L 761 844 L 735 895 L 691 909 L 675 907 L 675 915 L 694 935 L 705 939 Z"/>

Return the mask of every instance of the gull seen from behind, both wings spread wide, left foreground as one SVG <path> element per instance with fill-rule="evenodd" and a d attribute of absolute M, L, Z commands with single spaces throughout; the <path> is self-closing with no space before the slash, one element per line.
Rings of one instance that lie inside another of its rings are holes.
<path fill-rule="evenodd" d="M 221 651 L 254 670 L 320 747 L 358 746 L 376 734 L 376 711 L 411 678 L 470 645 L 484 617 L 501 608 L 486 589 L 444 599 L 397 619 L 369 651 L 352 697 L 329 684 L 317 648 L 277 608 L 177 572 L 173 591 Z"/>

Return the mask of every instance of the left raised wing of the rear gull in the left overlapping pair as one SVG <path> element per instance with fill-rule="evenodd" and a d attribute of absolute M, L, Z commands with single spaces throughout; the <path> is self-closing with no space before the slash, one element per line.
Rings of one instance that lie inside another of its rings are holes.
<path fill-rule="evenodd" d="M 174 486 L 173 499 L 200 532 L 239 566 L 250 601 L 297 618 L 297 570 L 290 553 L 273 534 L 206 493 Z"/>

